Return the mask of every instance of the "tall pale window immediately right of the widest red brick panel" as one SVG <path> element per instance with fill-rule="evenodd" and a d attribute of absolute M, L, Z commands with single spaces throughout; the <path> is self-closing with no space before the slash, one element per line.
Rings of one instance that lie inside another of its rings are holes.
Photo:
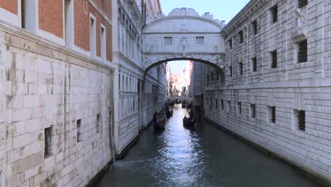
<path fill-rule="evenodd" d="M 67 47 L 74 45 L 74 5 L 73 1 L 64 1 L 64 39 Z"/>

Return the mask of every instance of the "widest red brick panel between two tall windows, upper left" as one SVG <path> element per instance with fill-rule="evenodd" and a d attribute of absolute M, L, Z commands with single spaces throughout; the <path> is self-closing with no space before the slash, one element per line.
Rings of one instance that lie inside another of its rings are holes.
<path fill-rule="evenodd" d="M 63 38 L 62 0 L 39 0 L 39 28 Z"/>

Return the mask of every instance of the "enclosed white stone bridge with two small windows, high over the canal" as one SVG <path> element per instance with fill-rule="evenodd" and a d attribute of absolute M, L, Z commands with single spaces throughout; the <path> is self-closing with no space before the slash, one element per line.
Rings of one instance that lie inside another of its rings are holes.
<path fill-rule="evenodd" d="M 204 62 L 223 72 L 224 26 L 211 14 L 199 16 L 192 8 L 175 8 L 168 16 L 159 14 L 142 33 L 145 74 L 151 67 L 173 60 Z"/>

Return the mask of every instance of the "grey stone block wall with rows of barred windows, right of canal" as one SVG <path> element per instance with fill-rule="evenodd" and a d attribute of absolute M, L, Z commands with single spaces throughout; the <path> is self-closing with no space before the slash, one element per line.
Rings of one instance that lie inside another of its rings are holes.
<path fill-rule="evenodd" d="M 272 23 L 270 8 L 276 4 L 278 21 Z M 250 1 L 222 31 L 228 43 L 226 85 L 212 81 L 212 71 L 207 68 L 209 81 L 205 77 L 204 94 L 206 118 L 328 183 L 331 183 L 330 8 L 331 1 L 308 1 L 303 8 L 298 8 L 298 1 Z M 253 21 L 257 21 L 256 35 Z M 232 49 L 228 42 L 231 38 Z M 296 42 L 304 38 L 308 39 L 308 61 L 298 63 Z M 274 50 L 277 68 L 271 67 L 270 52 Z M 253 57 L 257 57 L 256 72 L 252 71 Z M 243 74 L 239 63 L 243 63 Z M 213 84 L 221 89 L 212 89 Z M 255 118 L 251 116 L 250 104 L 256 106 Z M 275 123 L 270 120 L 269 106 L 276 107 Z M 306 111 L 304 131 L 298 130 L 295 110 Z"/>

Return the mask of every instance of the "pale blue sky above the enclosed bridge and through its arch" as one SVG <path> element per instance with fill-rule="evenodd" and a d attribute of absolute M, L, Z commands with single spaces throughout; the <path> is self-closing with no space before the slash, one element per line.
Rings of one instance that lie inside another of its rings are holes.
<path fill-rule="evenodd" d="M 173 8 L 193 8 L 201 16 L 205 12 L 214 15 L 214 19 L 224 20 L 226 23 L 246 5 L 249 0 L 161 0 L 162 11 L 165 16 Z M 168 62 L 171 73 L 179 74 L 185 67 L 186 61 Z"/>

